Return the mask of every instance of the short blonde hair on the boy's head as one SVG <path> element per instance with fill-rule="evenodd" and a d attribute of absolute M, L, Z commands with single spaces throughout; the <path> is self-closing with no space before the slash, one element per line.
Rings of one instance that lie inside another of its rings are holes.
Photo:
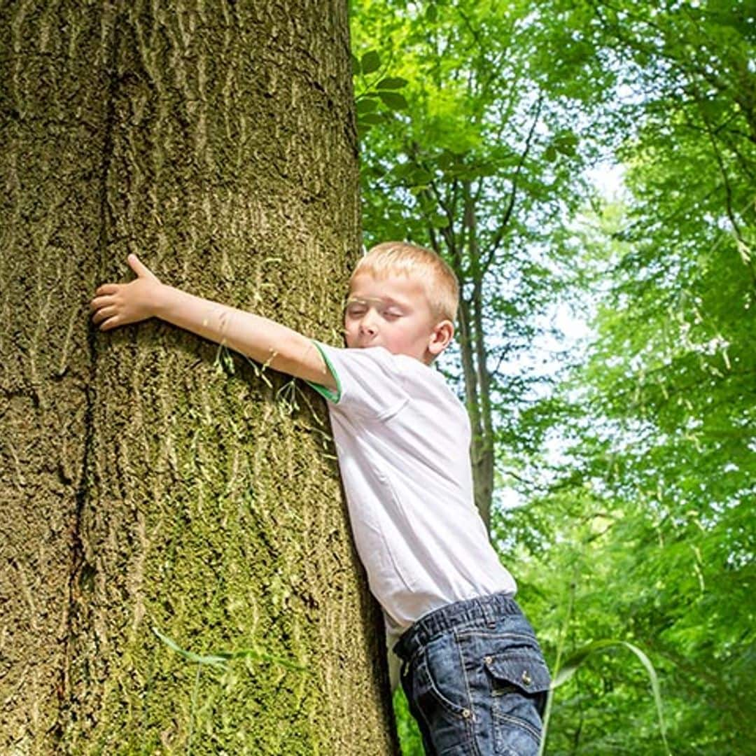
<path fill-rule="evenodd" d="M 358 273 L 369 273 L 376 278 L 385 278 L 392 273 L 417 277 L 425 287 L 433 316 L 452 323 L 457 318 L 460 299 L 457 276 L 431 249 L 404 241 L 376 244 L 357 263 L 352 278 Z"/>

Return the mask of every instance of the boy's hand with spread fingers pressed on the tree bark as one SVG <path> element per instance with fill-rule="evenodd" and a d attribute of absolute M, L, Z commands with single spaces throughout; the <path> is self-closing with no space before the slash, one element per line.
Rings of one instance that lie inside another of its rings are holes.
<path fill-rule="evenodd" d="M 162 284 L 136 255 L 129 255 L 129 267 L 137 274 L 131 283 L 104 283 L 89 304 L 92 321 L 100 330 L 138 323 L 156 314 Z"/>

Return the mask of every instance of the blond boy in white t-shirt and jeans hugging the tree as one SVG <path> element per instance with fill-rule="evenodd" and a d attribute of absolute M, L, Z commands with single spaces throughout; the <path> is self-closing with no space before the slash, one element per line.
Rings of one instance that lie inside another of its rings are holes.
<path fill-rule="evenodd" d="M 435 253 L 380 244 L 355 268 L 346 349 L 160 283 L 91 302 L 110 330 L 161 318 L 302 378 L 328 401 L 352 531 L 428 754 L 538 753 L 549 674 L 472 498 L 469 420 L 430 365 L 454 334 L 458 286 Z"/>

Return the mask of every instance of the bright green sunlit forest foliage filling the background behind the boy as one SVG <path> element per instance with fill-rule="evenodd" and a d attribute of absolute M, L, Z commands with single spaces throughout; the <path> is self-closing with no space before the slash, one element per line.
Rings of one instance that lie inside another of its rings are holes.
<path fill-rule="evenodd" d="M 362 106 L 383 109 L 367 240 L 435 246 L 479 297 L 497 486 L 524 503 L 492 537 L 552 666 L 581 661 L 549 754 L 661 754 L 662 700 L 672 753 L 754 752 L 754 29 L 737 0 L 355 16 L 407 102 Z M 612 200 L 588 186 L 602 160 L 624 166 Z M 527 356 L 557 303 L 591 336 L 547 373 Z M 466 386 L 461 350 L 444 367 Z"/>

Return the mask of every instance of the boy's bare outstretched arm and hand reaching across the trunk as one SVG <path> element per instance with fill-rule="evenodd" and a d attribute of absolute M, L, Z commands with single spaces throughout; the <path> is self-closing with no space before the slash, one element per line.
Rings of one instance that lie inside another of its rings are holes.
<path fill-rule="evenodd" d="M 166 286 L 136 255 L 129 255 L 129 265 L 137 275 L 135 280 L 104 283 L 95 292 L 90 308 L 100 330 L 160 318 L 281 373 L 336 389 L 336 380 L 321 353 L 301 333 L 251 312 Z"/>

